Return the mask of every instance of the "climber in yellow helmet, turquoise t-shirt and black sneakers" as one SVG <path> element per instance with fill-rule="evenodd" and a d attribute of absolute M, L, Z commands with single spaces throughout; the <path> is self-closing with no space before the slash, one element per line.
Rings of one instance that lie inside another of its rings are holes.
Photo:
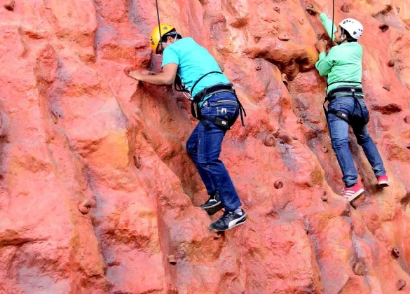
<path fill-rule="evenodd" d="M 211 230 L 229 230 L 246 221 L 231 177 L 219 160 L 225 133 L 238 118 L 240 103 L 228 78 L 205 48 L 192 38 L 182 38 L 174 27 L 155 27 L 150 38 L 151 48 L 163 55 L 162 73 L 144 74 L 130 71 L 131 78 L 153 85 L 172 85 L 177 78 L 179 87 L 189 92 L 198 104 L 200 123 L 186 142 L 186 151 L 193 160 L 210 198 L 200 207 L 208 214 L 222 208 L 224 214 L 210 225 Z"/>

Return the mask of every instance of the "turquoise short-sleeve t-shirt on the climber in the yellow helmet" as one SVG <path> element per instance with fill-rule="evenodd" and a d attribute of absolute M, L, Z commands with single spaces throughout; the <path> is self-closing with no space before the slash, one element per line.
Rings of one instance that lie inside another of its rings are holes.
<path fill-rule="evenodd" d="M 181 77 L 186 89 L 191 92 L 191 88 L 205 73 L 219 71 L 217 61 L 205 48 L 198 45 L 193 38 L 181 38 L 175 43 L 168 45 L 163 52 L 163 64 L 178 64 L 177 74 Z M 222 73 L 210 73 L 205 76 L 193 88 L 192 97 L 205 87 L 210 87 L 217 83 L 230 83 L 228 78 Z M 205 99 L 203 100 L 205 102 Z"/>

